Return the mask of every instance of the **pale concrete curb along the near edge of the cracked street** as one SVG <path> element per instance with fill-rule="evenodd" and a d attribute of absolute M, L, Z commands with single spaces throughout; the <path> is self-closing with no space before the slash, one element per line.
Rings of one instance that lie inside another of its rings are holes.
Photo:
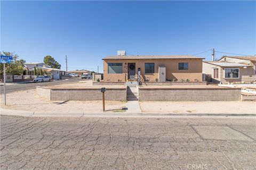
<path fill-rule="evenodd" d="M 245 116 L 254 117 L 256 114 L 209 114 L 209 113 L 130 113 L 130 112 L 98 112 L 98 113 L 85 113 L 85 112 L 74 112 L 74 113 L 61 113 L 61 112 L 33 112 L 33 111 L 17 111 L 11 109 L 1 108 L 0 115 L 10 115 L 10 116 L 31 116 L 31 117 L 201 117 L 201 116 L 220 116 L 220 117 L 230 117 L 230 116 Z"/>

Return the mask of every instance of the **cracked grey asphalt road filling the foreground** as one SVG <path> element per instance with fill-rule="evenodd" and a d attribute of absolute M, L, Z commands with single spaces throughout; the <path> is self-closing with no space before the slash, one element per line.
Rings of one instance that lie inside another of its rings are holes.
<path fill-rule="evenodd" d="M 255 118 L 1 116 L 1 169 L 256 169 Z"/>

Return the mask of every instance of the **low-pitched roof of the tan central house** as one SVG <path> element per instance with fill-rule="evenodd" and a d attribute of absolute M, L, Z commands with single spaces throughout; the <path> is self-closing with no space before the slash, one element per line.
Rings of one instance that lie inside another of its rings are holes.
<path fill-rule="evenodd" d="M 137 55 L 137 56 L 107 56 L 102 60 L 140 60 L 140 59 L 204 59 L 191 55 Z"/>

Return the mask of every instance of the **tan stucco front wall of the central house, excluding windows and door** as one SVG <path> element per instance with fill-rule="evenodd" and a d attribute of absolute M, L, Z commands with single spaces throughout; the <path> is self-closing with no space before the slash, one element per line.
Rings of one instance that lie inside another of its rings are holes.
<path fill-rule="evenodd" d="M 122 74 L 108 74 L 107 63 L 123 63 Z M 126 64 L 125 64 L 126 63 Z M 149 81 L 158 79 L 158 66 L 166 66 L 166 79 L 178 80 L 189 79 L 190 81 L 202 81 L 202 59 L 158 59 L 158 60 L 104 60 L 103 61 L 103 80 L 116 82 L 127 80 L 127 65 L 135 63 L 136 77 L 138 68 L 141 69 L 143 79 L 149 78 Z M 155 63 L 155 73 L 145 74 L 145 63 Z M 188 63 L 188 70 L 179 70 L 179 63 Z M 126 79 L 125 79 L 126 78 Z"/>

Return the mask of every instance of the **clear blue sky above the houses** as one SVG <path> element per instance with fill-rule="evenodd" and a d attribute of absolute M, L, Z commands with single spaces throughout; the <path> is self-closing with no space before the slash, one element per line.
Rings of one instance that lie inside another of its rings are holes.
<path fill-rule="evenodd" d="M 102 58 L 256 54 L 256 1 L 1 1 L 1 51 L 51 55 L 66 70 L 102 72 Z"/>

